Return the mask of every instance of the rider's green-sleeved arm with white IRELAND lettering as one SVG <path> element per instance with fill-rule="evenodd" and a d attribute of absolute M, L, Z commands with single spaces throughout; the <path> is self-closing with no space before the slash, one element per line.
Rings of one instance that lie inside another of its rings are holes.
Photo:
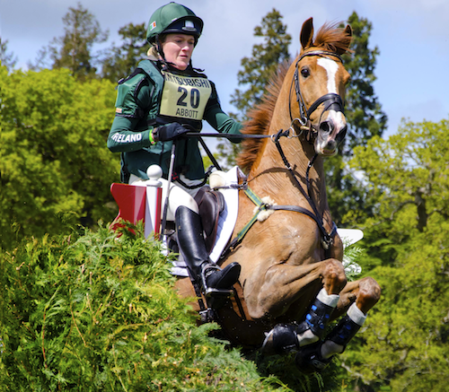
<path fill-rule="evenodd" d="M 111 152 L 137 151 L 154 144 L 150 138 L 153 127 L 145 124 L 151 88 L 148 78 L 142 74 L 119 84 L 116 115 L 107 143 Z"/>

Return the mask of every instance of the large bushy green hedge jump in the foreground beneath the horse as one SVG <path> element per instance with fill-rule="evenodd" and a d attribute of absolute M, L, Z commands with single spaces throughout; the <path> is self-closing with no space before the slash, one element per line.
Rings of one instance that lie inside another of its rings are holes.
<path fill-rule="evenodd" d="M 10 391 L 292 390 L 197 327 L 158 244 L 107 228 L 23 242 L 0 264 Z M 3 389 L 4 390 L 4 389 Z"/>

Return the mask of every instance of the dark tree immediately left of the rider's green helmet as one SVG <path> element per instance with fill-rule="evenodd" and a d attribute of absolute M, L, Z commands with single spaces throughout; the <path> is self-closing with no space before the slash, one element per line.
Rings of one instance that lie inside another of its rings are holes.
<path fill-rule="evenodd" d="M 101 61 L 101 77 L 113 83 L 131 74 L 138 62 L 145 57 L 147 46 L 145 23 L 129 23 L 119 30 L 119 35 L 123 45 L 113 45 Z"/>

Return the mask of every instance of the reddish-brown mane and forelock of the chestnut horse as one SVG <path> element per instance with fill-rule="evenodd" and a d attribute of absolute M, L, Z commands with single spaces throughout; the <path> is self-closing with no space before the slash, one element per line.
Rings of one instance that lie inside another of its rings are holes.
<path fill-rule="evenodd" d="M 317 32 L 311 47 L 321 48 L 333 53 L 343 54 L 348 51 L 351 37 L 340 29 L 340 23 L 326 23 Z M 307 49 L 307 48 L 305 48 Z M 303 49 L 303 51 L 305 50 Z M 267 135 L 269 124 L 276 106 L 277 96 L 282 89 L 284 79 L 292 61 L 283 62 L 272 74 L 262 100 L 257 108 L 250 109 L 247 113 L 249 119 L 243 124 L 244 135 Z M 267 139 L 245 139 L 242 142 L 242 152 L 237 156 L 237 165 L 245 172 L 251 170 L 256 161 L 260 147 Z"/>

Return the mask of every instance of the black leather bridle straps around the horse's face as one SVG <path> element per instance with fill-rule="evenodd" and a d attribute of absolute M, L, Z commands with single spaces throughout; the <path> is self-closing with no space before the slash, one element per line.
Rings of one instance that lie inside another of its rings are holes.
<path fill-rule="evenodd" d="M 337 57 L 340 62 L 342 62 L 341 57 L 337 53 L 327 52 L 323 50 L 314 50 L 312 52 L 306 52 L 301 57 L 298 58 L 298 61 L 296 61 L 295 65 L 295 74 L 292 81 L 292 87 L 293 84 L 295 84 L 295 92 L 296 92 L 296 101 L 298 102 L 299 107 L 299 118 L 293 118 L 292 116 L 292 106 L 291 106 L 291 96 L 290 96 L 290 102 L 289 102 L 289 110 L 290 110 L 290 119 L 292 120 L 292 124 L 295 120 L 298 120 L 302 127 L 307 126 L 309 135 L 306 135 L 307 140 L 312 139 L 311 134 L 316 134 L 317 130 L 313 127 L 312 121 L 310 120 L 310 117 L 312 116 L 312 113 L 318 109 L 318 107 L 321 105 L 321 103 L 324 103 L 324 109 L 322 110 L 322 113 L 324 113 L 327 110 L 334 109 L 336 111 L 341 111 L 344 114 L 344 103 L 339 94 L 335 94 L 333 92 L 330 92 L 329 94 L 325 94 L 322 97 L 320 97 L 318 100 L 315 100 L 313 104 L 310 106 L 309 109 L 305 107 L 303 94 L 301 93 L 301 89 L 299 87 L 299 72 L 298 72 L 298 64 L 304 57 L 309 56 L 319 56 L 319 57 Z M 321 113 L 321 116 L 322 116 Z M 320 118 L 321 121 L 321 118 Z"/>

